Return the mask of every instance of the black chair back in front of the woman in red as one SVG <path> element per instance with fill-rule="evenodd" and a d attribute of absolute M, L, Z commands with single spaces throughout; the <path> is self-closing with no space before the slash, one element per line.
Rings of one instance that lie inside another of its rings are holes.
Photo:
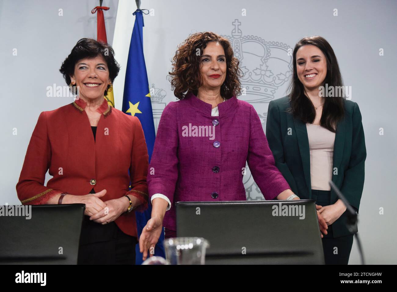
<path fill-rule="evenodd" d="M 0 263 L 77 264 L 84 209 L 84 204 L 34 205 L 31 219 L 1 216 Z"/>

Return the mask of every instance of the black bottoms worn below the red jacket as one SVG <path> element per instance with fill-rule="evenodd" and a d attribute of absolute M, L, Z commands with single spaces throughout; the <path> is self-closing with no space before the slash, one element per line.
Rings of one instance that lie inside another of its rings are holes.
<path fill-rule="evenodd" d="M 115 222 L 100 224 L 84 216 L 78 265 L 134 265 L 135 236 L 125 234 Z"/>

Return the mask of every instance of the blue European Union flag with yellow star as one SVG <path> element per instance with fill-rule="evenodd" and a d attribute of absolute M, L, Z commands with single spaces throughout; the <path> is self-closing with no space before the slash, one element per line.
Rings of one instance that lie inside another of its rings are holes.
<path fill-rule="evenodd" d="M 134 29 L 132 31 L 131 43 L 129 45 L 127 68 L 125 73 L 124 95 L 123 95 L 123 112 L 139 118 L 145 133 L 146 145 L 148 147 L 149 161 L 152 157 L 154 131 L 152 104 L 150 101 L 148 75 L 146 73 L 145 57 L 143 56 L 143 12 L 137 9 L 135 15 Z M 150 219 L 152 206 L 149 204 L 144 213 L 135 212 L 137 218 L 138 236 L 141 236 L 142 230 L 147 221 Z M 155 255 L 165 258 L 164 252 L 164 231 L 154 249 Z M 139 244 L 136 248 L 136 264 L 142 263 L 142 253 L 139 252 Z"/>

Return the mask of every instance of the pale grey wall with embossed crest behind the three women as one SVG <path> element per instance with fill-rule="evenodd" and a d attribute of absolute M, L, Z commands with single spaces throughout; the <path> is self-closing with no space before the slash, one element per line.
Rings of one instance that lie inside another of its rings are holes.
<path fill-rule="evenodd" d="M 0 204 L 20 203 L 15 184 L 40 112 L 73 100 L 47 97 L 46 87 L 53 83 L 65 85 L 58 72 L 62 61 L 77 40 L 96 38 L 96 15 L 91 14 L 91 9 L 97 5 L 99 1 L 94 0 L 0 1 Z M 114 83 L 116 108 L 121 109 L 127 50 L 135 20 L 132 12 L 136 6 L 135 1 L 127 0 L 104 0 L 103 5 L 110 7 L 104 12 L 108 42 L 113 44 L 121 65 Z M 143 39 L 149 86 L 153 85 L 156 92 L 152 95 L 155 122 L 164 106 L 175 101 L 166 76 L 177 44 L 191 33 L 214 31 L 239 45 L 239 58 L 246 73 L 243 86 L 248 87 L 247 95 L 239 98 L 254 105 L 263 126 L 268 102 L 285 95 L 291 61 L 287 49 L 308 35 L 321 35 L 330 42 L 345 85 L 352 87 L 352 100 L 360 106 L 363 118 L 368 154 L 358 229 L 366 261 L 395 264 L 397 101 L 393 86 L 397 2 L 143 0 L 141 8 L 151 12 L 144 15 Z M 59 16 L 59 9 L 63 16 Z M 379 55 L 380 48 L 384 49 L 384 56 Z M 277 78 L 255 74 L 256 68 L 271 70 Z M 14 128 L 17 135 L 13 135 Z M 379 134 L 380 128 L 384 135 Z M 245 176 L 245 187 L 248 199 L 263 199 L 249 173 Z M 384 208 L 383 215 L 380 208 Z M 349 263 L 359 262 L 353 243 Z"/>

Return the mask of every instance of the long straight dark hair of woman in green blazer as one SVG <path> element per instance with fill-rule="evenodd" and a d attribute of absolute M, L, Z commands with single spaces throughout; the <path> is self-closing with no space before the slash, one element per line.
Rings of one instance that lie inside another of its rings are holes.
<path fill-rule="evenodd" d="M 316 110 L 310 99 L 304 95 L 303 84 L 298 78 L 296 59 L 297 50 L 306 44 L 318 47 L 326 57 L 327 75 L 324 79 L 324 84 L 328 84 L 328 87 L 334 86 L 336 88 L 337 86 L 343 86 L 343 81 L 335 53 L 326 39 L 320 36 L 304 37 L 295 45 L 292 78 L 287 89 L 291 102 L 289 112 L 293 114 L 294 118 L 300 118 L 304 123 L 311 124 L 316 117 Z M 343 105 L 343 97 L 326 98 L 322 108 L 320 125 L 335 133 L 336 124 L 344 115 Z"/>

